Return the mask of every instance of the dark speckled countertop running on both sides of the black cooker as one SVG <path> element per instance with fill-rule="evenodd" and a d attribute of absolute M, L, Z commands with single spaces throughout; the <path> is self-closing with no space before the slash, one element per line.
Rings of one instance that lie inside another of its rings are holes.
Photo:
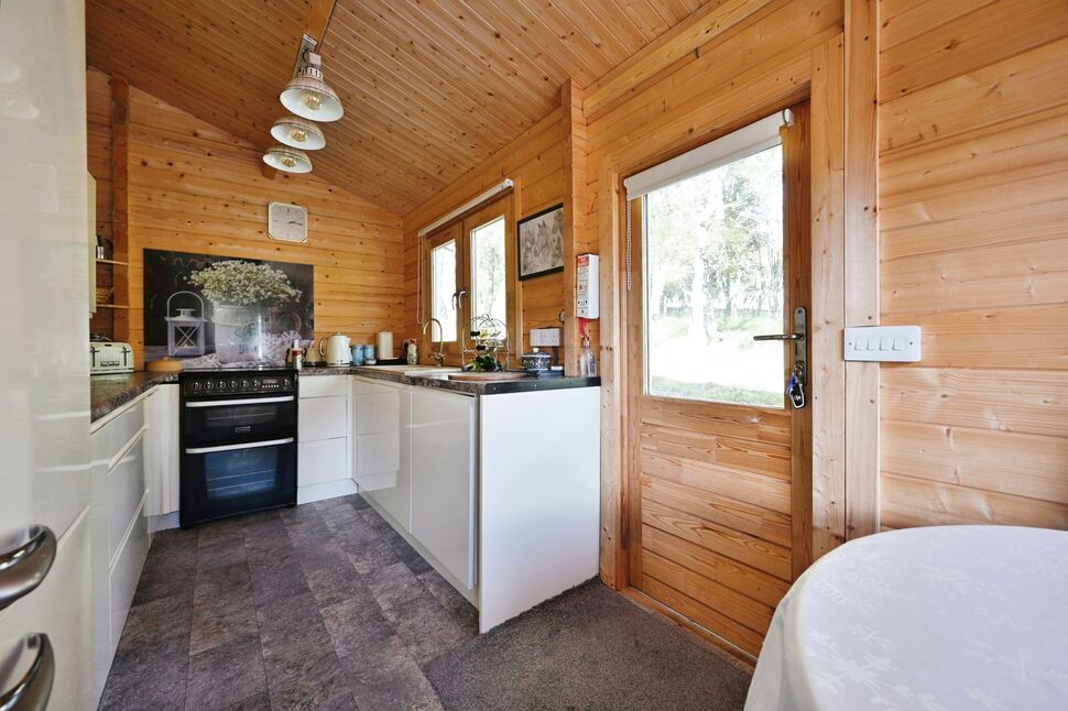
<path fill-rule="evenodd" d="M 544 378 L 525 378 L 523 380 L 471 382 L 449 380 L 445 373 L 426 375 L 405 375 L 396 370 L 382 370 L 373 365 L 345 368 L 305 368 L 301 378 L 316 375 L 361 375 L 392 383 L 416 385 L 419 387 L 435 387 L 469 395 L 498 395 L 502 393 L 526 393 L 543 390 L 563 390 L 568 387 L 597 387 L 600 378 L 562 378 L 548 375 Z M 90 422 L 97 422 L 122 407 L 141 393 L 161 383 L 178 382 L 177 373 L 122 373 L 117 375 L 91 375 L 89 379 L 89 411 Z"/>

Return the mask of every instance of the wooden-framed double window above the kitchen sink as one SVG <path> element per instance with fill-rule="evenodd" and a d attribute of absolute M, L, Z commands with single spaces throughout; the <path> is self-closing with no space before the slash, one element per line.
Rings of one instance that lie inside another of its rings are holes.
<path fill-rule="evenodd" d="M 453 364 L 460 364 L 462 346 L 472 347 L 472 318 L 489 316 L 503 322 L 509 333 L 515 329 L 510 318 L 510 284 L 515 278 L 511 204 L 511 196 L 494 200 L 426 238 L 429 316 L 445 330 L 445 352 Z M 428 359 L 439 339 L 436 325 L 427 330 L 433 330 L 433 341 L 425 338 L 423 346 Z M 514 346 L 517 339 L 510 340 Z"/>

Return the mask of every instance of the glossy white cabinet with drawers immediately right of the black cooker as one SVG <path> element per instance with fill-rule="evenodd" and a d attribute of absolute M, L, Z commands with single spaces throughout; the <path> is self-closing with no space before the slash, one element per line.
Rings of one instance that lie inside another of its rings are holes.
<path fill-rule="evenodd" d="M 356 493 L 348 375 L 304 375 L 297 403 L 297 503 Z"/>

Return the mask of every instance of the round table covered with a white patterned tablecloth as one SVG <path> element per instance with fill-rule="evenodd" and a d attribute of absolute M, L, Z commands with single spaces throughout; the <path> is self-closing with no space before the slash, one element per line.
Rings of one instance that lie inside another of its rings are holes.
<path fill-rule="evenodd" d="M 778 604 L 746 711 L 1068 709 L 1068 532 L 848 543 Z"/>

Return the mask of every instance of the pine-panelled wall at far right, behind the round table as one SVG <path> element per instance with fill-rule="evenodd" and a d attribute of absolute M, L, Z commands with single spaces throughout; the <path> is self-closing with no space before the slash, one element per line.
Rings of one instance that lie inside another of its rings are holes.
<path fill-rule="evenodd" d="M 1068 4 L 881 13 L 882 523 L 1068 528 Z"/>

